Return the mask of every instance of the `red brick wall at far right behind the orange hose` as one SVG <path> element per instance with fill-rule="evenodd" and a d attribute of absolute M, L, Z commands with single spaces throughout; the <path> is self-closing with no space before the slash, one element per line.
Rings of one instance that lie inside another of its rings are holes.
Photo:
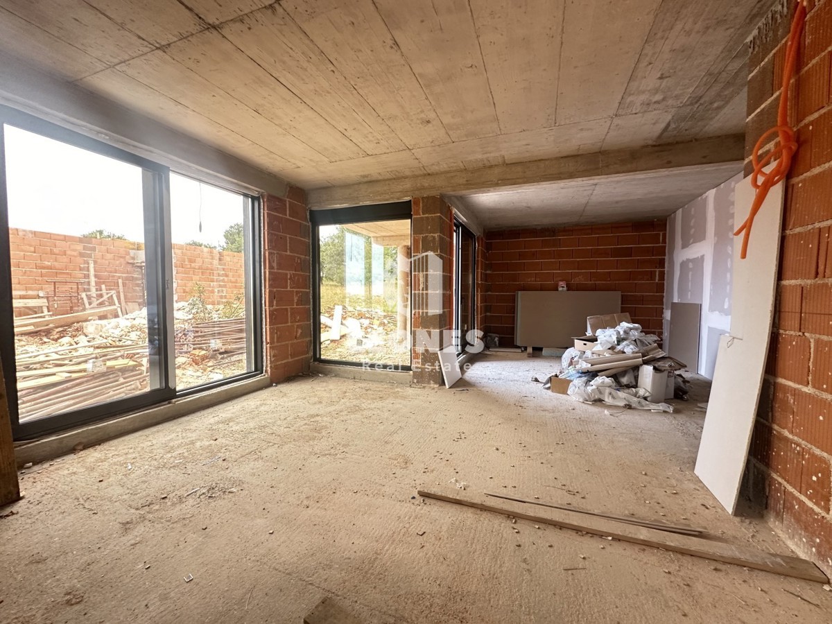
<path fill-rule="evenodd" d="M 810 7 L 791 89 L 799 150 L 785 193 L 775 332 L 746 476 L 772 525 L 832 572 L 832 0 Z M 746 156 L 775 125 L 791 17 L 751 53 Z"/>

